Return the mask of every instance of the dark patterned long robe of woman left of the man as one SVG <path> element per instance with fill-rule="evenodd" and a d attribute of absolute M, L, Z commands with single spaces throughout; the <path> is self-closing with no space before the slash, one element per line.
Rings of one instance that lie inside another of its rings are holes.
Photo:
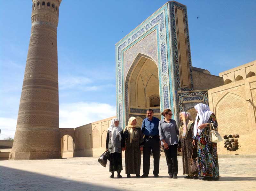
<path fill-rule="evenodd" d="M 126 174 L 140 174 L 141 151 L 143 146 L 143 133 L 141 128 L 134 128 L 132 143 L 130 142 L 130 134 L 127 130 L 124 132 L 124 139 L 126 142 L 125 150 L 125 173 Z"/>

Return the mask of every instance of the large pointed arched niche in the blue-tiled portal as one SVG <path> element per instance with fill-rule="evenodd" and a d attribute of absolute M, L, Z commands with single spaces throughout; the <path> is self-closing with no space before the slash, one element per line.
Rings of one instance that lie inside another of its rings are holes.
<path fill-rule="evenodd" d="M 158 67 L 150 57 L 138 54 L 125 79 L 126 124 L 130 115 L 146 114 L 145 109 L 150 107 L 149 97 L 153 95 L 160 97 Z M 159 107 L 153 107 L 152 109 L 159 110 Z"/>

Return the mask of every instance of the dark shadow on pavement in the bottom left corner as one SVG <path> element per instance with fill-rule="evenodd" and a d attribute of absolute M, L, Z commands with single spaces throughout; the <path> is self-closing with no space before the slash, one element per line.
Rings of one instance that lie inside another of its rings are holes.
<path fill-rule="evenodd" d="M 56 174 L 57 175 L 57 174 Z M 118 190 L 0 166 L 0 190 Z"/>

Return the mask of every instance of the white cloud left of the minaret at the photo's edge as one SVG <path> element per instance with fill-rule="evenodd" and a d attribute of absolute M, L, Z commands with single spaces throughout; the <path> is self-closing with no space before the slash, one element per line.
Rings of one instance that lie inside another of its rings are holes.
<path fill-rule="evenodd" d="M 17 119 L 15 118 L 0 118 L 0 129 L 1 129 L 0 139 L 4 139 L 7 137 L 14 138 L 16 124 L 17 124 Z"/>

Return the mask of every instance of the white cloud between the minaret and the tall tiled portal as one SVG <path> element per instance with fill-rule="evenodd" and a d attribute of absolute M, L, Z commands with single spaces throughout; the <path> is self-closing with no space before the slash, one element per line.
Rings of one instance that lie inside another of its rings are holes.
<path fill-rule="evenodd" d="M 108 103 L 65 103 L 60 105 L 60 128 L 76 128 L 116 116 L 116 106 Z"/>

